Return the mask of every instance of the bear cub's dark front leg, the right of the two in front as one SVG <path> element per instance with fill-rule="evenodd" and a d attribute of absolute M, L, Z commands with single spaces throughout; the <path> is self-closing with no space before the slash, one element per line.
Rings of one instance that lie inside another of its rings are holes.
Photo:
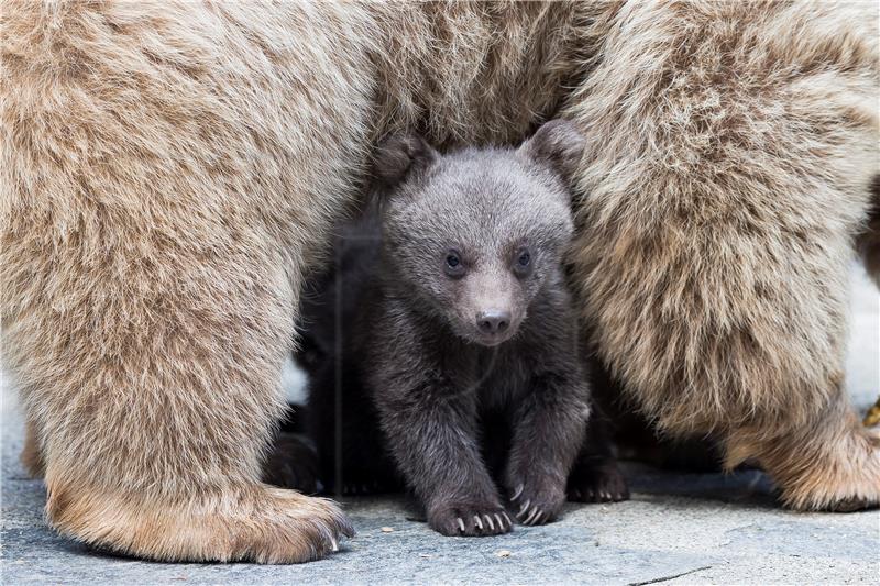
<path fill-rule="evenodd" d="M 590 416 L 586 383 L 575 366 L 536 376 L 514 414 L 504 483 L 524 524 L 553 520 L 583 444 Z"/>

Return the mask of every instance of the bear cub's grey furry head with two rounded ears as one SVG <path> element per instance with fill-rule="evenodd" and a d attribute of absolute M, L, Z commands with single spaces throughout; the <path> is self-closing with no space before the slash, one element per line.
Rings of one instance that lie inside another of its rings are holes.
<path fill-rule="evenodd" d="M 376 175 L 391 190 L 385 262 L 461 338 L 509 340 L 572 235 L 569 183 L 584 140 L 548 122 L 519 148 L 441 155 L 416 135 L 386 140 Z"/>

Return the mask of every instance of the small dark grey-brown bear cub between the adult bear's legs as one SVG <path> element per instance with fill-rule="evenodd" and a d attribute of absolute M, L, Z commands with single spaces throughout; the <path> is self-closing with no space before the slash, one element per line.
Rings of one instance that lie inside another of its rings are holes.
<path fill-rule="evenodd" d="M 320 466 L 298 463 L 282 484 L 311 488 L 314 469 L 338 493 L 403 482 L 446 535 L 548 522 L 566 494 L 628 498 L 601 422 L 587 423 L 562 266 L 582 151 L 564 121 L 518 148 L 381 145 L 385 192 L 304 296 Z"/>

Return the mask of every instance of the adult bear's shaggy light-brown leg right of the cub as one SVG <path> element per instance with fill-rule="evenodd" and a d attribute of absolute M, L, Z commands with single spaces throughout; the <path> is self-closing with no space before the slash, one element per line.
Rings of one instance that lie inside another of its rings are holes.
<path fill-rule="evenodd" d="M 878 173 L 872 10 L 628 4 L 566 110 L 604 362 L 661 429 L 726 438 L 728 464 L 757 458 L 801 509 L 880 501 L 843 387 Z"/>

